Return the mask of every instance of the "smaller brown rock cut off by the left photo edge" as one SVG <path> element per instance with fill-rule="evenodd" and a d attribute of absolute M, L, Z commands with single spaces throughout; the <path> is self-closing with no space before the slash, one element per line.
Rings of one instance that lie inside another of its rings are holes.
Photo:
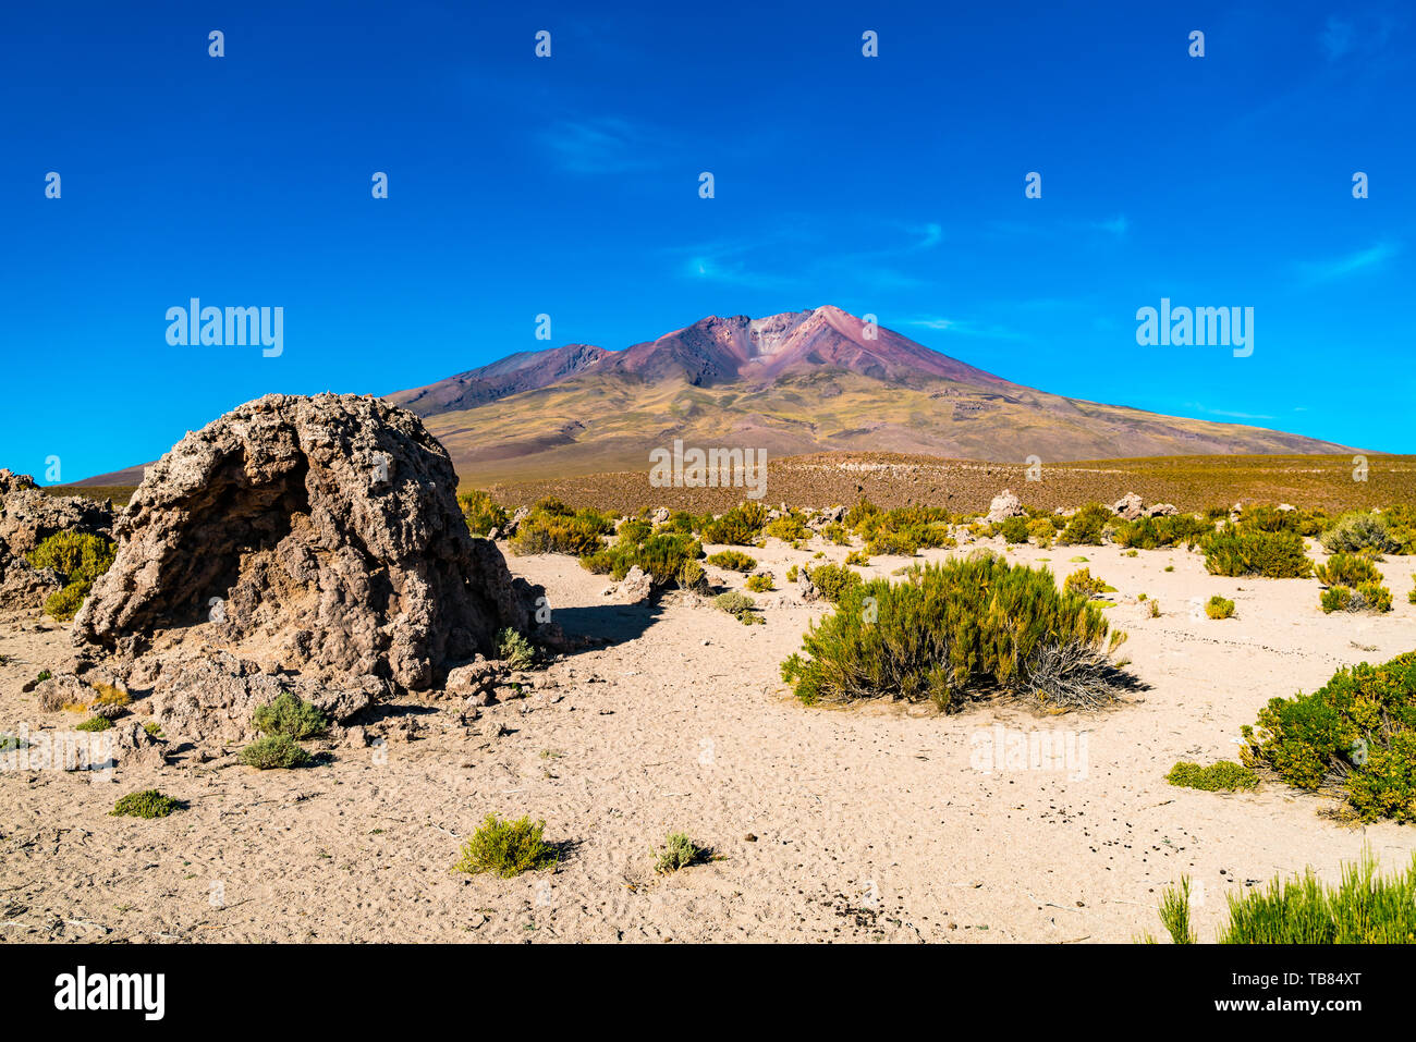
<path fill-rule="evenodd" d="M 108 537 L 113 504 L 82 496 L 50 496 L 28 474 L 0 470 L 0 610 L 35 609 L 59 589 L 50 569 L 24 555 L 62 531 Z"/>

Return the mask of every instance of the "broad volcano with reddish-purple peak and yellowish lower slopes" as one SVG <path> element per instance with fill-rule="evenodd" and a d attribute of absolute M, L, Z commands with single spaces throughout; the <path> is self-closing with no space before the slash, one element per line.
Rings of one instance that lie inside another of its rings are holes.
<path fill-rule="evenodd" d="M 513 360 L 541 378 L 562 364 L 552 354 L 530 355 L 539 362 Z M 1052 395 L 868 327 L 837 307 L 766 319 L 709 316 L 605 351 L 541 387 L 470 406 L 460 405 L 462 395 L 442 394 L 415 403 L 457 473 L 474 483 L 647 470 L 650 449 L 675 437 L 701 447 L 760 447 L 769 457 L 852 450 L 1014 463 L 1351 452 L 1301 435 Z"/>

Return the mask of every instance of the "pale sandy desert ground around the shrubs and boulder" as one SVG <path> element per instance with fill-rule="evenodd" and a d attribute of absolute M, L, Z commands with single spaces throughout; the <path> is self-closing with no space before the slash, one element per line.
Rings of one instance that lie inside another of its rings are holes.
<path fill-rule="evenodd" d="M 753 554 L 780 586 L 818 548 L 847 554 L 775 539 Z M 228 756 L 120 766 L 101 782 L 0 772 L 0 937 L 1129 941 L 1161 933 L 1160 893 L 1188 874 L 1211 940 L 1225 895 L 1277 872 L 1311 865 L 1335 879 L 1364 844 L 1383 869 L 1410 861 L 1416 830 L 1340 824 L 1320 814 L 1327 801 L 1281 784 L 1222 796 L 1164 780 L 1178 759 L 1235 759 L 1239 726 L 1269 698 L 1416 646 L 1408 561 L 1381 565 L 1396 607 L 1371 617 L 1324 616 L 1314 579 L 1209 576 L 1182 549 L 1008 554 L 1058 576 L 1089 558 L 1119 590 L 1107 613 L 1150 689 L 1092 715 L 807 708 L 779 663 L 828 606 L 758 595 L 766 624 L 742 626 L 691 595 L 607 603 L 607 579 L 573 558 L 508 556 L 547 586 L 568 633 L 612 643 L 555 661 L 525 698 L 472 722 L 457 699 L 382 706 L 371 731 L 387 729 L 385 745 L 324 743 L 326 762 L 303 770 Z M 903 563 L 882 556 L 865 571 Z M 1235 619 L 1195 612 L 1212 593 L 1235 600 Z M 0 622 L 0 729 L 72 726 L 20 689 L 67 650 L 65 626 Z M 990 773 L 995 728 L 1069 733 L 1076 755 Z M 154 786 L 188 808 L 109 817 L 118 796 Z M 545 818 L 559 865 L 507 881 L 453 872 L 459 840 L 489 813 Z M 651 848 L 680 830 L 721 857 L 657 876 Z"/>

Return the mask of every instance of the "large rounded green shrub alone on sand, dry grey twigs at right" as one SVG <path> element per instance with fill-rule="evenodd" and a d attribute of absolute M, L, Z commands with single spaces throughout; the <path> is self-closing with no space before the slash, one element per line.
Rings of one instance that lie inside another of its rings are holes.
<path fill-rule="evenodd" d="M 820 569 L 818 569 L 820 571 Z M 814 582 L 814 575 L 813 575 Z M 1107 622 L 1052 573 L 976 555 L 913 568 L 905 582 L 845 589 L 782 677 L 803 702 L 933 699 L 956 711 L 1007 691 L 1055 706 L 1109 701 Z M 1124 634 L 1113 634 L 1114 648 Z"/>

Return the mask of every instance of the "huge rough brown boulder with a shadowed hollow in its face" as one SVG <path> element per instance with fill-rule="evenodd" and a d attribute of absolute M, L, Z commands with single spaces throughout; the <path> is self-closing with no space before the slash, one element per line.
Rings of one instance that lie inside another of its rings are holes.
<path fill-rule="evenodd" d="M 238 714 L 266 701 L 255 672 L 299 674 L 338 689 L 323 699 L 338 718 L 494 654 L 503 627 L 549 636 L 539 588 L 469 534 L 456 487 L 442 445 L 387 402 L 248 402 L 147 469 L 75 646 L 130 663 L 129 684 L 160 698 L 200 701 L 221 688 L 200 663 L 236 663 L 218 701 Z"/>

